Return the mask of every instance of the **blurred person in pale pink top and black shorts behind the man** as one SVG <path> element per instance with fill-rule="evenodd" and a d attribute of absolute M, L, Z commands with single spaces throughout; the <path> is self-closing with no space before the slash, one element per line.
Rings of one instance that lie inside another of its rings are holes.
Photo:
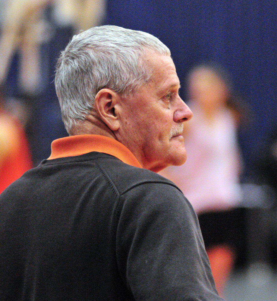
<path fill-rule="evenodd" d="M 184 125 L 187 161 L 160 174 L 181 188 L 197 212 L 216 288 L 223 296 L 235 260 L 235 207 L 242 199 L 236 139 L 241 115 L 230 77 L 215 63 L 192 69 L 188 93 L 194 116 Z"/>

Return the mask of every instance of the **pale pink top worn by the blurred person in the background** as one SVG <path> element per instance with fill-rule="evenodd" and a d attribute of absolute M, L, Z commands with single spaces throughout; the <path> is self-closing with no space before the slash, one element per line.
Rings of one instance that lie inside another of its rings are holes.
<path fill-rule="evenodd" d="M 219 111 L 211 124 L 194 103 L 190 108 L 194 116 L 185 137 L 187 161 L 160 174 L 177 184 L 197 213 L 231 208 L 241 200 L 233 115 L 228 109 Z"/>

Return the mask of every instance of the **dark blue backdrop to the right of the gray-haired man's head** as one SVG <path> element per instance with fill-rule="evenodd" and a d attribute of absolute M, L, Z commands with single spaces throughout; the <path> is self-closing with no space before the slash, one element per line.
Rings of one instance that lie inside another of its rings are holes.
<path fill-rule="evenodd" d="M 190 67 L 202 61 L 232 74 L 252 112 L 240 143 L 246 174 L 255 176 L 253 163 L 276 125 L 277 2 L 108 0 L 107 10 L 105 24 L 146 31 L 169 47 L 183 87 Z"/>

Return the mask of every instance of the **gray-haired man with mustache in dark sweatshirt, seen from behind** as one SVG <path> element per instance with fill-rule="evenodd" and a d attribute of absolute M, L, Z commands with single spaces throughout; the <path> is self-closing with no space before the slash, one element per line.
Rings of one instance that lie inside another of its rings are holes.
<path fill-rule="evenodd" d="M 94 27 L 55 84 L 70 136 L 0 196 L 0 299 L 222 300 L 194 210 L 155 173 L 184 163 L 192 117 L 169 49 Z"/>

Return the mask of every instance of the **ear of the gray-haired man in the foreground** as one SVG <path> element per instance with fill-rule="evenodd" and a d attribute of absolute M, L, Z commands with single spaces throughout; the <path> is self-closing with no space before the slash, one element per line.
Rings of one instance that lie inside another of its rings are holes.
<path fill-rule="evenodd" d="M 121 97 L 110 89 L 101 89 L 95 96 L 94 107 L 101 120 L 110 130 L 119 128 L 118 105 Z"/>

